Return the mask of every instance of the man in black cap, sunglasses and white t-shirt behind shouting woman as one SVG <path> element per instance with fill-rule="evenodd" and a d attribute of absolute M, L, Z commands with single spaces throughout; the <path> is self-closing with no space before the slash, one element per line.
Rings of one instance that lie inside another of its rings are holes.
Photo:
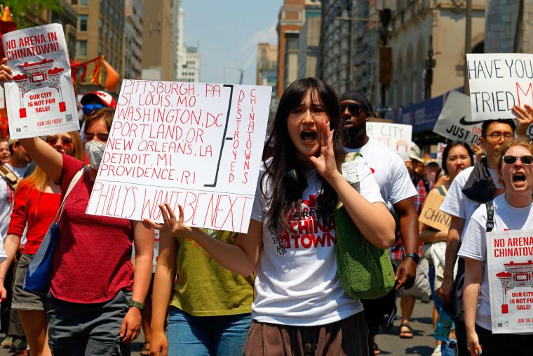
<path fill-rule="evenodd" d="M 383 143 L 370 138 L 366 133 L 366 122 L 373 117 L 370 101 L 358 91 L 347 91 L 340 97 L 346 152 L 360 152 L 367 161 L 386 204 L 392 205 L 400 221 L 400 232 L 405 238 L 403 251 L 405 258 L 396 268 L 396 289 L 408 289 L 414 284 L 417 272 L 418 255 L 418 215 L 414 205 L 417 190 L 411 183 L 403 160 Z M 396 291 L 391 291 L 392 297 Z M 396 305 L 388 303 L 389 295 L 377 300 L 363 301 L 365 321 L 369 329 L 370 355 L 379 352 L 374 343 L 379 324 L 391 327 Z M 390 309 L 389 309 L 390 306 Z M 379 322 L 379 315 L 388 315 L 386 322 Z"/>

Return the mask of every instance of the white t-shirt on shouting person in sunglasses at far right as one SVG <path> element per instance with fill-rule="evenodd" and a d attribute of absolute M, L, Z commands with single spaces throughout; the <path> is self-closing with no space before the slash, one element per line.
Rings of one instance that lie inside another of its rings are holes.
<path fill-rule="evenodd" d="M 494 228 L 492 231 L 533 229 L 533 204 L 529 204 L 524 208 L 515 208 L 506 202 L 505 194 L 494 198 L 493 202 Z M 475 324 L 478 324 L 484 329 L 492 330 L 488 279 L 489 268 L 487 267 L 487 208 L 485 204 L 481 204 L 474 211 L 471 222 L 464 231 L 464 239 L 461 243 L 461 249 L 459 249 L 459 256 L 485 261 Z"/>

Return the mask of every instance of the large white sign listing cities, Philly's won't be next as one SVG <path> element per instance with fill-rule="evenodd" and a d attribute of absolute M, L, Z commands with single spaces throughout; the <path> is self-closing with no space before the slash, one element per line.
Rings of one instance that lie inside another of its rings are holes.
<path fill-rule="evenodd" d="M 247 232 L 271 91 L 125 79 L 87 213 Z"/>

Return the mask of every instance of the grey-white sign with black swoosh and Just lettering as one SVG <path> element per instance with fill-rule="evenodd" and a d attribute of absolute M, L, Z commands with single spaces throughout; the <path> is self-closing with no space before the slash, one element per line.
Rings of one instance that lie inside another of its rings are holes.
<path fill-rule="evenodd" d="M 450 140 L 463 141 L 468 145 L 474 143 L 479 145 L 483 121 L 472 122 L 471 116 L 468 95 L 458 91 L 450 91 L 443 110 L 440 112 L 435 126 L 433 126 L 433 132 L 450 138 Z"/>

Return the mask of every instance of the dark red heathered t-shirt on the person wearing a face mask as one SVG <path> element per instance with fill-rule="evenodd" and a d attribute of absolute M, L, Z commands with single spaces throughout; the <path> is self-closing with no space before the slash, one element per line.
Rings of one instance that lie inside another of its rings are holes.
<path fill-rule="evenodd" d="M 61 198 L 83 163 L 65 154 Z M 102 303 L 133 290 L 130 220 L 85 213 L 94 181 L 86 171 L 67 197 L 55 243 L 50 291 L 71 303 Z"/>

